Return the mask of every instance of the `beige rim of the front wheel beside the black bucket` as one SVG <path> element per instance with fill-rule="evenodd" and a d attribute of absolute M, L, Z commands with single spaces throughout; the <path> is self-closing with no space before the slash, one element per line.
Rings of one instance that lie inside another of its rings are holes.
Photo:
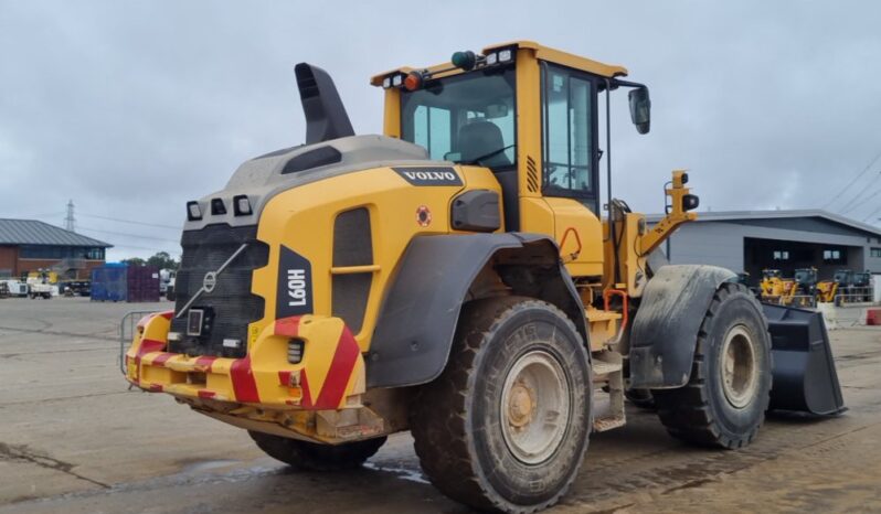
<path fill-rule="evenodd" d="M 742 324 L 732 326 L 725 334 L 725 342 L 720 353 L 722 390 L 732 407 L 744 408 L 755 396 L 758 385 L 758 366 L 755 356 L 755 342 L 746 326 Z"/>

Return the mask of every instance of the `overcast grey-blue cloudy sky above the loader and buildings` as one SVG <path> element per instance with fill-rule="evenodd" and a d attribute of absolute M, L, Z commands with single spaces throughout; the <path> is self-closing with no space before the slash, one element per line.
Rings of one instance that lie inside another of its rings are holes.
<path fill-rule="evenodd" d="M 722 3 L 0 0 L 0 217 L 63 225 L 72 199 L 108 259 L 176 254 L 187 200 L 302 142 L 296 63 L 374 133 L 372 74 L 531 39 L 650 86 L 648 136 L 613 105 L 614 194 L 635 210 L 689 168 L 702 208 L 881 223 L 881 3 Z"/>

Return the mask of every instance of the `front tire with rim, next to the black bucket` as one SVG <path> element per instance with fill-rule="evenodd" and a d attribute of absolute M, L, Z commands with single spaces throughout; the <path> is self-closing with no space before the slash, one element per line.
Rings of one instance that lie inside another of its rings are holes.
<path fill-rule="evenodd" d="M 673 437 L 734 449 L 755 439 L 769 390 L 771 335 L 762 307 L 744 286 L 723 283 L 701 323 L 688 384 L 651 393 Z"/>

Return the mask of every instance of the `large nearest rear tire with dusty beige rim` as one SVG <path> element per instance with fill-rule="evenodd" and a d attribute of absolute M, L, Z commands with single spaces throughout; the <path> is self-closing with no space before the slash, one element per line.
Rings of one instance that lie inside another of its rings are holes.
<path fill-rule="evenodd" d="M 591 392 L 585 345 L 559 309 L 521 297 L 469 302 L 446 368 L 414 396 L 416 454 L 454 500 L 540 511 L 565 494 L 584 460 Z"/>

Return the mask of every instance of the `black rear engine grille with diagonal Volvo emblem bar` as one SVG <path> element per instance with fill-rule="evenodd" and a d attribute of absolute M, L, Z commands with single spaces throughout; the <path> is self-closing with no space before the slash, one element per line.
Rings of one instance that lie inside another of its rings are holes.
<path fill-rule="evenodd" d="M 216 271 L 243 244 L 238 254 L 217 275 L 211 292 L 203 292 L 190 309 L 204 309 L 211 313 L 210 326 L 199 336 L 187 335 L 187 318 L 172 318 L 171 331 L 181 334 L 180 341 L 170 341 L 169 351 L 189 355 L 244 357 L 247 353 L 247 325 L 263 318 L 264 300 L 251 293 L 252 271 L 266 266 L 269 247 L 257 240 L 257 227 L 231 227 L 227 224 L 209 225 L 199 231 L 187 231 L 181 237 L 183 255 L 174 288 L 174 313 L 181 312 L 190 299 L 202 289 L 205 274 Z M 225 347 L 223 340 L 238 340 L 238 347 Z"/>

